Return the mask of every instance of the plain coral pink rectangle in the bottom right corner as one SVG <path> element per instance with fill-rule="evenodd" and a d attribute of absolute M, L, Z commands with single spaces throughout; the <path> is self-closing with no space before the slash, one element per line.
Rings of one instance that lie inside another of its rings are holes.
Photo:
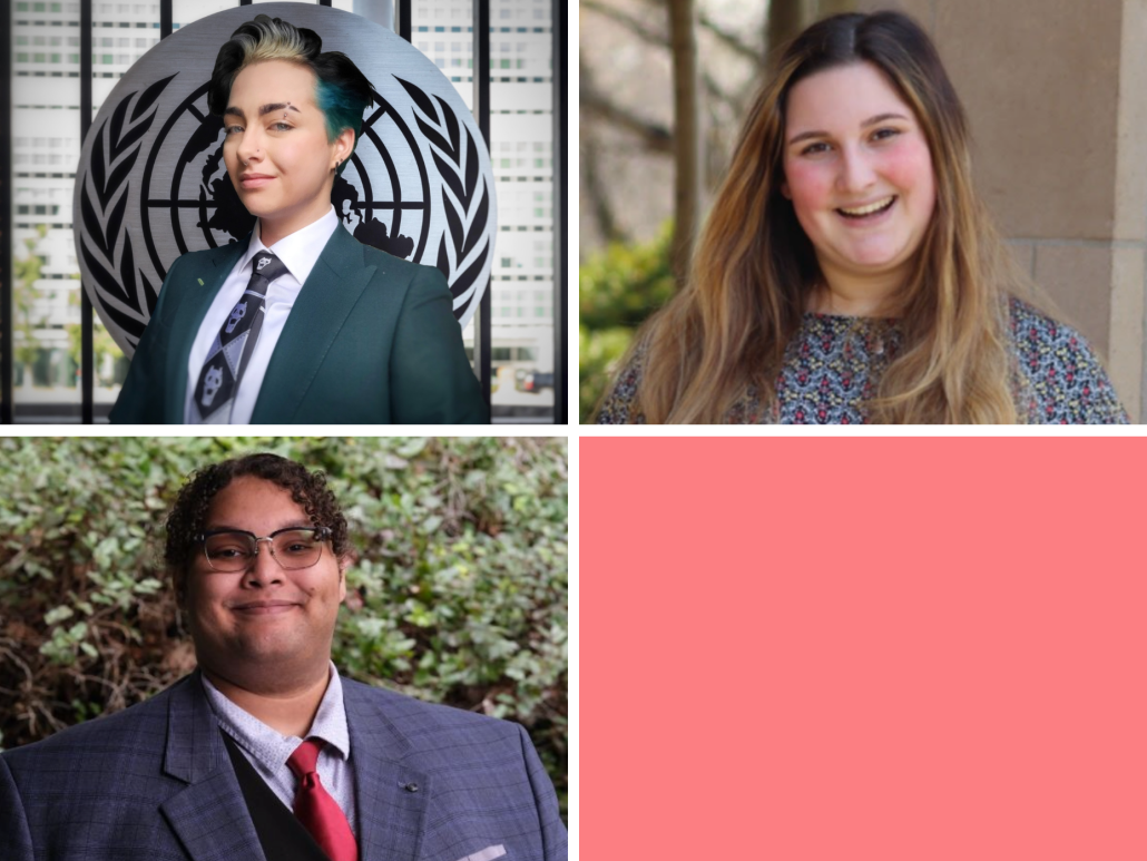
<path fill-rule="evenodd" d="M 1147 858 L 1147 440 L 579 445 L 585 858 Z"/>

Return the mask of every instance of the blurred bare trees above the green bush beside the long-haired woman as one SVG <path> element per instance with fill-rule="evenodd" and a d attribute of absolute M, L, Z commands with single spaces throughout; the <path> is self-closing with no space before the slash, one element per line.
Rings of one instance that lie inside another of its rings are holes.
<path fill-rule="evenodd" d="M 669 218 L 678 225 L 674 248 L 687 247 L 767 59 L 814 21 L 856 8 L 855 0 L 579 1 L 583 253 L 648 241 Z M 637 55 L 624 76 L 616 45 Z M 671 195 L 642 187 L 647 173 L 666 168 Z"/>

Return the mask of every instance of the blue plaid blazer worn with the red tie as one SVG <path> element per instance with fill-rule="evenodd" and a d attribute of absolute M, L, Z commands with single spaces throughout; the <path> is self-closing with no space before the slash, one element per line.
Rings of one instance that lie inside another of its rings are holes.
<path fill-rule="evenodd" d="M 360 861 L 565 859 L 522 727 L 345 678 L 343 698 Z M 0 754 L 0 859 L 265 861 L 198 672 Z"/>

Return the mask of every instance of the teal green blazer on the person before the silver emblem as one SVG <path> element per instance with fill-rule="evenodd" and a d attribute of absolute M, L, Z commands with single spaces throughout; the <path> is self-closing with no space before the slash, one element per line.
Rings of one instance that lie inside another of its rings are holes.
<path fill-rule="evenodd" d="M 112 422 L 184 424 L 192 343 L 249 235 L 172 265 Z M 365 246 L 340 226 L 287 318 L 251 424 L 486 421 L 442 272 Z"/>

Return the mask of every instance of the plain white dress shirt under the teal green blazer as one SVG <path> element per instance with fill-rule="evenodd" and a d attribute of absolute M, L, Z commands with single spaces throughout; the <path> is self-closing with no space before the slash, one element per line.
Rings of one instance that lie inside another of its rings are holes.
<path fill-rule="evenodd" d="M 243 378 L 239 382 L 235 404 L 231 411 L 231 424 L 250 424 L 251 413 L 255 411 L 255 401 L 259 396 L 259 388 L 262 388 L 263 378 L 267 373 L 271 355 L 275 351 L 275 344 L 279 343 L 279 335 L 282 334 L 283 326 L 287 324 L 290 309 L 294 308 L 298 292 L 303 289 L 319 255 L 327 247 L 327 241 L 338 230 L 338 216 L 331 205 L 319 220 L 295 231 L 289 236 L 283 236 L 274 246 L 267 248 L 259 239 L 262 224 L 256 219 L 247 251 L 235 263 L 227 280 L 223 282 L 223 287 L 216 294 L 214 301 L 211 302 L 211 307 L 203 317 L 203 323 L 200 324 L 200 332 L 192 343 L 192 352 L 187 357 L 187 398 L 184 402 L 184 421 L 189 425 L 197 424 L 195 387 L 200 381 L 200 372 L 203 370 L 203 362 L 206 359 L 208 351 L 214 343 L 219 329 L 223 328 L 224 321 L 231 316 L 231 310 L 243 295 L 248 281 L 251 280 L 251 258 L 259 251 L 273 251 L 287 266 L 288 272 L 272 281 L 267 288 L 263 328 L 259 331 L 259 339 L 255 342 L 255 350 L 251 352 L 247 370 L 243 371 Z M 227 420 L 225 416 L 220 418 L 224 421 Z"/>

